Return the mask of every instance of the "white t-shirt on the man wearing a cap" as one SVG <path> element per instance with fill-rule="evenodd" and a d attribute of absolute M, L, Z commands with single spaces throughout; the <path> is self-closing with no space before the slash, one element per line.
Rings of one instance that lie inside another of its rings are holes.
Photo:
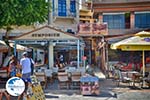
<path fill-rule="evenodd" d="M 22 58 L 20 60 L 20 65 L 22 66 L 22 74 L 31 73 L 31 63 L 29 58 Z"/>

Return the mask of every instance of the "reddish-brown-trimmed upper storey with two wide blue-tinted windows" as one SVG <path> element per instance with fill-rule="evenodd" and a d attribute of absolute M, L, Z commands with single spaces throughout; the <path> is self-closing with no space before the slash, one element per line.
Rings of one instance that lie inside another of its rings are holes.
<path fill-rule="evenodd" d="M 108 24 L 109 35 L 150 28 L 149 0 L 93 0 L 94 17 Z"/>

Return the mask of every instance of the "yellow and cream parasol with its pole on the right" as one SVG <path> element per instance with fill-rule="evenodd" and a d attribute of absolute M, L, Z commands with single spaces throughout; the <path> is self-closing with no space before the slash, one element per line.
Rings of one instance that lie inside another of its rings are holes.
<path fill-rule="evenodd" d="M 139 32 L 133 37 L 112 44 L 111 49 L 121 49 L 123 51 L 143 51 L 143 76 L 145 76 L 144 51 L 150 50 L 150 32 Z"/>

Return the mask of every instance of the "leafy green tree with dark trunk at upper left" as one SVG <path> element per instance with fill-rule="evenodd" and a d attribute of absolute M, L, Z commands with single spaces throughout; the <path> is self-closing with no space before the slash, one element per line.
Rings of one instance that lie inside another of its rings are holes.
<path fill-rule="evenodd" d="M 43 23 L 48 16 L 45 0 L 0 0 L 0 28 L 6 30 L 4 41 L 9 45 L 9 33 L 13 26 Z"/>

